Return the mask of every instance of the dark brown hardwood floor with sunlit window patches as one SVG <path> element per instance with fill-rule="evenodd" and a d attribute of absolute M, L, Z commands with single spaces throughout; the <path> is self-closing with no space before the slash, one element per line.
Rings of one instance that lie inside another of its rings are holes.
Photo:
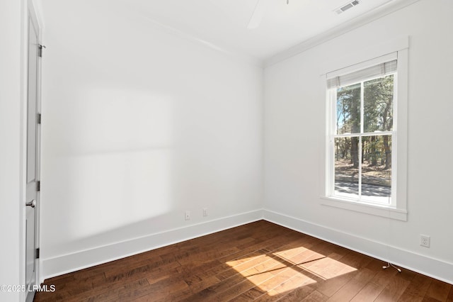
<path fill-rule="evenodd" d="M 45 280 L 35 301 L 453 301 L 453 286 L 260 220 Z"/>

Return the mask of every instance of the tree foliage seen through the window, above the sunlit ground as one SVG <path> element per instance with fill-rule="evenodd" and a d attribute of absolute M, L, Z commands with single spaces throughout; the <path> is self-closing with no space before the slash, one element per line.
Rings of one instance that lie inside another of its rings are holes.
<path fill-rule="evenodd" d="M 363 87 L 363 121 L 360 112 Z M 391 167 L 391 137 L 379 135 L 379 131 L 393 128 L 394 76 L 389 75 L 362 83 L 340 87 L 337 90 L 337 133 L 363 133 L 362 163 L 369 166 Z M 376 134 L 374 134 L 376 133 Z M 359 165 L 358 138 L 337 138 L 336 157 L 350 159 L 352 167 Z"/>

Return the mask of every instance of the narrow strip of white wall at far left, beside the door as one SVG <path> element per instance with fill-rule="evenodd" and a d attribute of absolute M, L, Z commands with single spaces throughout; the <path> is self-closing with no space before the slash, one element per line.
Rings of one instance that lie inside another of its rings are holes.
<path fill-rule="evenodd" d="M 24 1 L 0 2 L 0 285 L 25 284 L 23 253 Z M 0 291 L 1 301 L 24 293 Z"/>

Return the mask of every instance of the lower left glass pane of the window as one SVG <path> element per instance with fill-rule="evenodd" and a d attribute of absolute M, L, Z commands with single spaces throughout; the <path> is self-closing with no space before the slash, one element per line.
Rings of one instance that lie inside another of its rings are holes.
<path fill-rule="evenodd" d="M 358 198 L 359 169 L 357 138 L 335 139 L 335 192 L 336 196 Z M 353 147 L 355 145 L 355 147 Z M 355 152 L 354 152 L 355 149 Z"/>

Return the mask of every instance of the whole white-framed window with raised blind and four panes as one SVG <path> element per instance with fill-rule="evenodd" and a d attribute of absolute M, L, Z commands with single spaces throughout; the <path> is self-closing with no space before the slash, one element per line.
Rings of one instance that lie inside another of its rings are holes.
<path fill-rule="evenodd" d="M 398 63 L 394 52 L 329 72 L 324 78 L 328 205 L 406 220 L 406 201 L 399 201 L 406 196 L 397 194 Z M 401 149 L 406 151 L 405 146 Z"/>

